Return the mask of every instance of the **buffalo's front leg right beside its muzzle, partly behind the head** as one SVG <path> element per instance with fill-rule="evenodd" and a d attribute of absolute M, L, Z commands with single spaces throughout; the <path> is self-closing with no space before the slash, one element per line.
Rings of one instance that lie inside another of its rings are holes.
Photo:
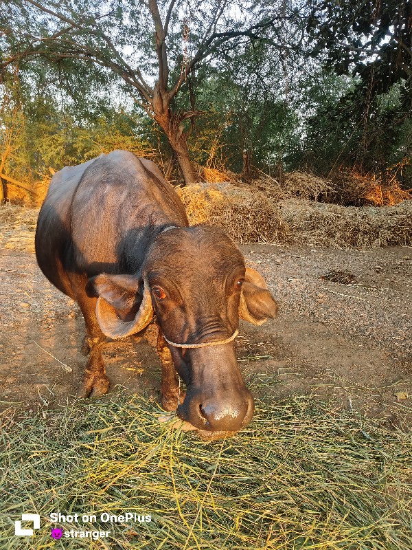
<path fill-rule="evenodd" d="M 179 403 L 183 403 L 185 392 L 179 386 L 179 376 L 174 368 L 172 354 L 160 327 L 157 336 L 157 353 L 161 361 L 161 406 L 164 410 L 176 410 Z"/>

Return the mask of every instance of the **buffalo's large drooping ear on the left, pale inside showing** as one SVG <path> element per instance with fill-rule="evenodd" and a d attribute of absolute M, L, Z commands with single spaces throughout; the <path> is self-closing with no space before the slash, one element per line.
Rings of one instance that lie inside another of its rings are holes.
<path fill-rule="evenodd" d="M 146 283 L 133 275 L 102 273 L 89 279 L 86 292 L 98 298 L 96 318 L 102 333 L 123 338 L 143 330 L 153 317 L 152 298 Z"/>

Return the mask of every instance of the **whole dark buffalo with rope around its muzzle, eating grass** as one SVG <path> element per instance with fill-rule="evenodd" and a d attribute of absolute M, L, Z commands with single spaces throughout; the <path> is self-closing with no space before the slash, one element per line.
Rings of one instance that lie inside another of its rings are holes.
<path fill-rule="evenodd" d="M 154 319 L 163 408 L 177 408 L 203 434 L 236 432 L 253 415 L 233 347 L 239 316 L 261 325 L 277 306 L 231 239 L 188 225 L 159 168 L 114 151 L 54 175 L 38 216 L 36 257 L 82 310 L 83 397 L 108 391 L 105 336 L 142 333 Z M 176 371 L 187 386 L 180 404 Z"/>

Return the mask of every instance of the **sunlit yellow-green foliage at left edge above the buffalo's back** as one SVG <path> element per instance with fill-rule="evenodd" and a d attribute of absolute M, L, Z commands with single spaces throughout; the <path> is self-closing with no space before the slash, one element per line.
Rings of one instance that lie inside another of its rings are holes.
<path fill-rule="evenodd" d="M 53 96 L 52 84 L 29 87 L 19 77 L 14 74 L 1 85 L 0 153 L 5 175 L 34 184 L 49 175 L 49 167 L 60 170 L 115 148 L 153 155 L 150 144 L 135 133 L 136 122 L 122 109 L 108 105 L 102 109 L 100 104 L 93 115 L 93 102 L 84 111 L 84 98 L 76 104 L 65 94 Z"/>

